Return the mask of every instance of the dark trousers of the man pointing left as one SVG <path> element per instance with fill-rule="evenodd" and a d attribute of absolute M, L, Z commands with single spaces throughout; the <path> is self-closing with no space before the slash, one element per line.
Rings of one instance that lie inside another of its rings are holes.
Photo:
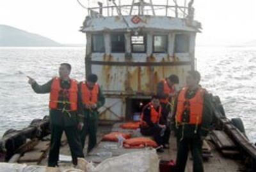
<path fill-rule="evenodd" d="M 77 125 L 63 127 L 61 125 L 51 124 L 51 145 L 48 166 L 54 167 L 58 165 L 61 136 L 63 131 L 65 131 L 67 136 L 68 145 L 72 155 L 72 163 L 76 165 L 77 157 L 84 157 L 81 140 L 77 131 Z"/>

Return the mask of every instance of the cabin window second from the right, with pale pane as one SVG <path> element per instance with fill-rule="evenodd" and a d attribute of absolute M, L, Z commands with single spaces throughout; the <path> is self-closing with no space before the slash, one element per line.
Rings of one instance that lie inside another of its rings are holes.
<path fill-rule="evenodd" d="M 168 35 L 154 36 L 154 52 L 167 52 Z"/>

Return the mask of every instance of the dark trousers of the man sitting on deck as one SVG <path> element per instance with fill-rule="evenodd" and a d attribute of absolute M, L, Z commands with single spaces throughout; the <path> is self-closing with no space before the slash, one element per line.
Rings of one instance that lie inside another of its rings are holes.
<path fill-rule="evenodd" d="M 170 129 L 168 127 L 166 127 L 163 136 L 160 135 L 161 127 L 157 125 L 154 125 L 153 127 L 141 127 L 140 131 L 144 136 L 153 136 L 157 145 L 163 145 L 169 142 Z"/>

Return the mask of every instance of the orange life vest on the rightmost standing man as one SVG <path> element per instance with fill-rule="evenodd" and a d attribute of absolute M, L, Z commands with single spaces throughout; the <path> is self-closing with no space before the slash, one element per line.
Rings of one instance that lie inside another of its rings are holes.
<path fill-rule="evenodd" d="M 182 123 L 182 116 L 185 110 L 189 110 L 189 123 L 191 125 L 202 124 L 205 89 L 199 88 L 191 99 L 186 98 L 188 87 L 180 90 L 177 103 L 176 122 Z"/>

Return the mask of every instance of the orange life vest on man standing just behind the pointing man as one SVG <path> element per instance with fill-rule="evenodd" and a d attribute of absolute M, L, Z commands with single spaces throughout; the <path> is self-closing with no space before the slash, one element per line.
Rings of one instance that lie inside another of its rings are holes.
<path fill-rule="evenodd" d="M 86 82 L 81 83 L 81 93 L 83 104 L 97 104 L 99 94 L 99 84 L 95 83 L 92 90 L 90 90 Z"/>

